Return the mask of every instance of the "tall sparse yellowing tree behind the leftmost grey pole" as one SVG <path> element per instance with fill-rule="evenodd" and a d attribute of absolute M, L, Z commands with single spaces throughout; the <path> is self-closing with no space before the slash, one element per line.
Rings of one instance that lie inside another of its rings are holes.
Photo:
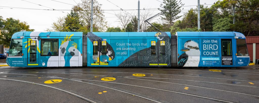
<path fill-rule="evenodd" d="M 102 4 L 97 0 L 93 1 L 93 28 L 97 31 L 104 31 L 107 21 L 104 18 L 104 12 L 101 11 Z M 74 6 L 74 11 L 80 15 L 83 25 L 90 30 L 91 28 L 91 0 L 82 0 L 77 6 Z"/>

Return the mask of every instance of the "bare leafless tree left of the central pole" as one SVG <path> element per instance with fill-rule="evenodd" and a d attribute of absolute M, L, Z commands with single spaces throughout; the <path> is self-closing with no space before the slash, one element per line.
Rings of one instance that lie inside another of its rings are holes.
<path fill-rule="evenodd" d="M 128 23 L 131 22 L 130 14 L 127 12 L 123 12 L 123 13 L 120 12 L 115 15 L 118 18 L 118 22 L 120 23 L 120 26 L 123 28 L 123 31 L 125 31 Z"/>

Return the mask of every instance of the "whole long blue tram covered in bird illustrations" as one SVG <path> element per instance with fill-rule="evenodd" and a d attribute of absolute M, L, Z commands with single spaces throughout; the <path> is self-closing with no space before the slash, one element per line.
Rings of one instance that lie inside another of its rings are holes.
<path fill-rule="evenodd" d="M 239 67 L 250 57 L 238 32 L 31 32 L 12 35 L 12 67 Z"/>

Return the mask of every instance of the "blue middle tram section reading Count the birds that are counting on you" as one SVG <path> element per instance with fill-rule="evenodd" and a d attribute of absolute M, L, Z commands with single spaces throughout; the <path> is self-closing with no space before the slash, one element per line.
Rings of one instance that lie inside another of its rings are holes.
<path fill-rule="evenodd" d="M 170 37 L 163 32 L 159 35 L 167 37 L 158 39 L 155 34 L 150 34 L 153 37 L 99 37 L 98 33 L 88 33 L 88 66 L 170 66 Z"/>

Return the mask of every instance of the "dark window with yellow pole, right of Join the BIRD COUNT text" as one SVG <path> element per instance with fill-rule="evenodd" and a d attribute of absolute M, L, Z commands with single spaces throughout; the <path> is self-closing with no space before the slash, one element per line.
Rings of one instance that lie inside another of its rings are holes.
<path fill-rule="evenodd" d="M 222 56 L 232 56 L 232 40 L 221 39 Z"/>

